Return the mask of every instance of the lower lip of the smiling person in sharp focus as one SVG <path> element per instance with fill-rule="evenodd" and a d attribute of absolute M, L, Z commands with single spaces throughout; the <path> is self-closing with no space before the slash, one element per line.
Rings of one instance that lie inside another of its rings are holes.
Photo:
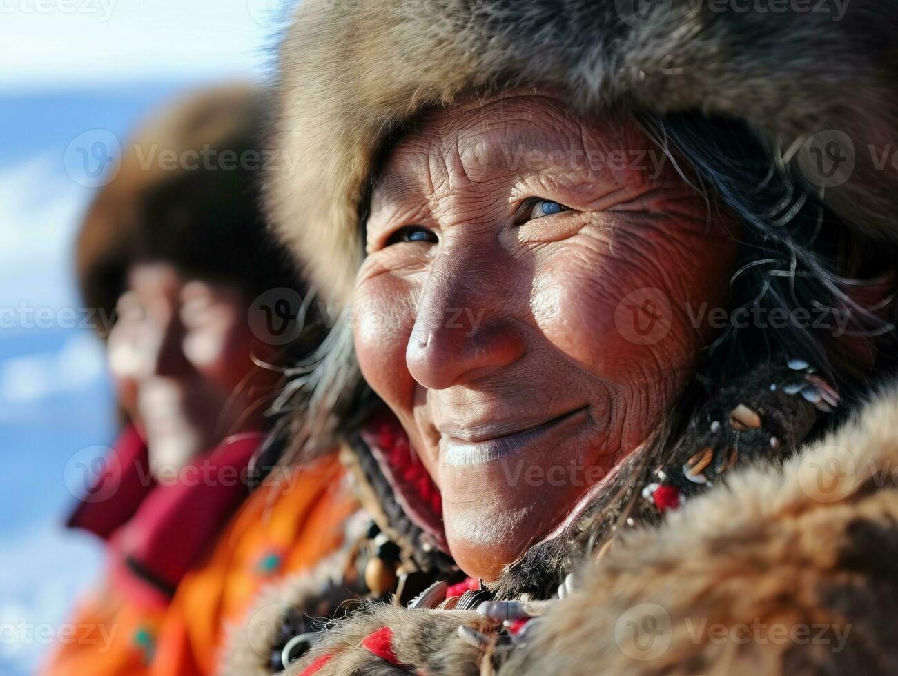
<path fill-rule="evenodd" d="M 586 408 L 578 408 L 545 425 L 482 442 L 464 442 L 455 438 L 445 438 L 441 456 L 446 465 L 453 467 L 480 465 L 501 460 L 536 445 L 560 443 L 564 436 L 569 435 L 572 430 L 583 424 L 586 416 Z"/>

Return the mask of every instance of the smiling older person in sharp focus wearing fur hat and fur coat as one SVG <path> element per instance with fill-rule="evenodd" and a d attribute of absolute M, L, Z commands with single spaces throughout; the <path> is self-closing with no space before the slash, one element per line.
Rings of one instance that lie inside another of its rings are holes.
<path fill-rule="evenodd" d="M 292 441 L 344 444 L 384 602 L 290 673 L 898 668 L 898 12 L 625 5 L 297 15 Z"/>

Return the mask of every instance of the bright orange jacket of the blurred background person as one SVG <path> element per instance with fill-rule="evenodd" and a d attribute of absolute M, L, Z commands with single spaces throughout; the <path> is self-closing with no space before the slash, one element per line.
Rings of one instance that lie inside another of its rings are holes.
<path fill-rule="evenodd" d="M 314 566 L 338 549 L 358 505 L 336 455 L 269 478 L 193 566 L 167 607 L 108 586 L 75 613 L 47 676 L 199 676 L 216 670 L 225 628 L 260 587 Z"/>

